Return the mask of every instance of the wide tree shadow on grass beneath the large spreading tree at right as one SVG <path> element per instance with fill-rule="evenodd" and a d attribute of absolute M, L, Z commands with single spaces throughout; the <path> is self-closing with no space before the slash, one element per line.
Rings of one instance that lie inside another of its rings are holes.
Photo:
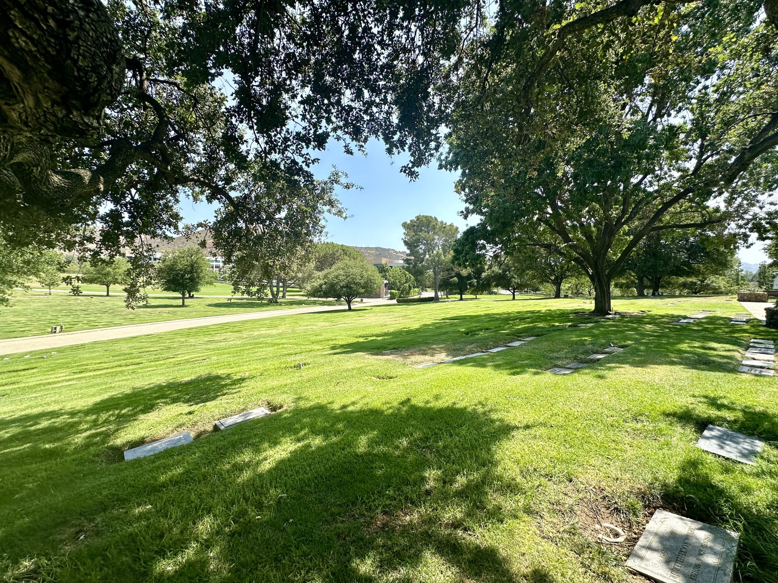
<path fill-rule="evenodd" d="M 761 326 L 737 329 L 723 316 L 707 316 L 696 323 L 675 325 L 682 314 L 643 314 L 592 322 L 575 315 L 575 309 L 538 309 L 520 312 L 447 316 L 402 330 L 372 333 L 333 347 L 335 354 L 363 353 L 415 358 L 424 354 L 468 354 L 499 346 L 521 337 L 538 340 L 494 354 L 454 361 L 447 367 L 482 367 L 510 374 L 545 370 L 576 361 L 609 344 L 628 347 L 618 356 L 591 365 L 598 372 L 613 366 L 675 365 L 694 370 L 737 373 L 738 350 L 747 339 L 764 333 Z M 577 326 L 592 323 L 591 326 Z M 434 358 L 432 358 L 434 361 Z M 409 364 L 416 364 L 410 361 Z"/>

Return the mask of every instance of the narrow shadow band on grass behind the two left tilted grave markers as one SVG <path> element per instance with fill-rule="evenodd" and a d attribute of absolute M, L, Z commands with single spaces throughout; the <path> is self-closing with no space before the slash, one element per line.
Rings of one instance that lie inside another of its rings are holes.
<path fill-rule="evenodd" d="M 0 421 L 0 466 L 19 467 L 30 459 L 54 462 L 77 449 L 113 459 L 128 447 L 152 441 L 110 445 L 113 434 L 156 407 L 171 404 L 196 406 L 240 389 L 245 379 L 233 375 L 201 375 L 114 393 L 83 409 L 44 410 Z"/>

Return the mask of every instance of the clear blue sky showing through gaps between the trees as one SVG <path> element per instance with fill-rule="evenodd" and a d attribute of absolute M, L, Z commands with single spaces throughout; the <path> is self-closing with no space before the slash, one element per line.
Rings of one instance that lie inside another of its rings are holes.
<path fill-rule="evenodd" d="M 345 221 L 330 217 L 327 222 L 327 239 L 335 243 L 356 246 L 380 246 L 403 250 L 402 222 L 416 215 L 433 215 L 446 222 L 453 222 L 464 229 L 468 222 L 457 213 L 463 204 L 454 192 L 456 175 L 429 166 L 421 170 L 418 180 L 410 182 L 400 173 L 405 157 L 391 159 L 378 141 L 370 141 L 367 155 L 346 155 L 338 144 L 331 144 L 319 155 L 321 162 L 315 173 L 324 178 L 333 165 L 349 174 L 349 180 L 363 187 L 362 190 L 342 190 L 339 197 L 349 213 Z M 181 204 L 185 222 L 198 222 L 213 216 L 208 204 L 193 204 L 185 200 Z M 470 218 L 470 224 L 476 218 Z M 762 245 L 756 243 L 750 249 L 738 253 L 742 261 L 759 264 L 766 259 Z"/>

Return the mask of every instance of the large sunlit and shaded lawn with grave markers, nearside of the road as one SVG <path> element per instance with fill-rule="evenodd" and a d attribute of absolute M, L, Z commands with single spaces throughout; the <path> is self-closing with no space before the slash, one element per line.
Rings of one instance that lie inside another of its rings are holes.
<path fill-rule="evenodd" d="M 661 507 L 740 532 L 736 581 L 778 581 L 778 383 L 736 372 L 749 337 L 778 335 L 730 324 L 731 298 L 668 303 L 608 320 L 573 299 L 380 305 L 13 355 L 0 573 L 643 581 L 624 563 Z M 626 350 L 545 372 L 610 343 Z M 278 411 L 212 433 L 260 405 Z M 758 464 L 697 449 L 709 423 L 766 439 Z M 179 431 L 195 441 L 121 461 Z M 599 522 L 629 544 L 599 544 Z"/>

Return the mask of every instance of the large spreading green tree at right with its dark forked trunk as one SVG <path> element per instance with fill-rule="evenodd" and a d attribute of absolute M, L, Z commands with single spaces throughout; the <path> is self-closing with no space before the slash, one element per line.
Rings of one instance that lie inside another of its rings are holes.
<path fill-rule="evenodd" d="M 601 314 L 651 232 L 745 227 L 778 183 L 776 18 L 761 10 L 500 3 L 450 89 L 444 162 L 465 214 L 496 243 L 568 254 Z"/>

